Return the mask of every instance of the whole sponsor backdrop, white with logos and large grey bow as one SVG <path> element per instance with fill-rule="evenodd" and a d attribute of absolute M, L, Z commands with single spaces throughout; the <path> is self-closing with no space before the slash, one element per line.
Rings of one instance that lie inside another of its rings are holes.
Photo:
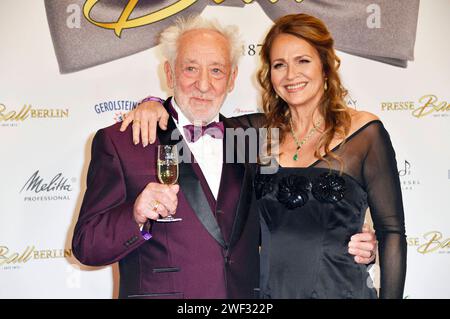
<path fill-rule="evenodd" d="M 117 265 L 85 267 L 71 252 L 95 131 L 146 95 L 167 95 L 154 44 L 176 11 L 240 27 L 244 56 L 223 113 L 254 112 L 258 44 L 271 18 L 292 8 L 329 23 L 348 103 L 377 114 L 390 132 L 408 235 L 405 298 L 449 298 L 450 1 L 422 0 L 418 16 L 416 0 L 327 2 L 2 0 L 0 298 L 116 297 Z M 165 7 L 165 20 L 132 25 Z"/>

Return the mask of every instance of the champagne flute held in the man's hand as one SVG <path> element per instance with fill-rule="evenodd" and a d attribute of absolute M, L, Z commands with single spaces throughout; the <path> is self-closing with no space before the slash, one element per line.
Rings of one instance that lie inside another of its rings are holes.
<path fill-rule="evenodd" d="M 161 184 L 173 185 L 178 180 L 178 150 L 176 145 L 158 145 L 157 161 L 158 179 Z M 174 218 L 169 215 L 164 218 L 158 218 L 158 222 L 177 222 L 181 218 Z"/>

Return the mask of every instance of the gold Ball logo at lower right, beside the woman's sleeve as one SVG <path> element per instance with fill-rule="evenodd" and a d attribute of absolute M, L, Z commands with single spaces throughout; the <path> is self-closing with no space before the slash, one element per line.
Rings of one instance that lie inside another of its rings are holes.
<path fill-rule="evenodd" d="M 449 254 L 450 238 L 437 230 L 432 230 L 423 234 L 422 237 L 408 237 L 408 246 L 417 247 L 417 252 L 426 254 Z"/>

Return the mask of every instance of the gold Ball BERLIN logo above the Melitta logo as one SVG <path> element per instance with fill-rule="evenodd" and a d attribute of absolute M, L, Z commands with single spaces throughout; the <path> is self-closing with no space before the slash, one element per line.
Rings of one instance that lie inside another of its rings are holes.
<path fill-rule="evenodd" d="M 25 104 L 20 110 L 10 110 L 0 103 L 0 125 L 18 126 L 29 119 L 62 119 L 69 117 L 68 109 L 34 108 Z"/>

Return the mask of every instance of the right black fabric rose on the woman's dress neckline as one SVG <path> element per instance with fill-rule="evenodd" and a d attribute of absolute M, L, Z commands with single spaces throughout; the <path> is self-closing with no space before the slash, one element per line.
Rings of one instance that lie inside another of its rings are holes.
<path fill-rule="evenodd" d="M 323 173 L 314 180 L 312 194 L 318 201 L 337 203 L 344 198 L 344 192 L 345 180 L 335 173 Z"/>

